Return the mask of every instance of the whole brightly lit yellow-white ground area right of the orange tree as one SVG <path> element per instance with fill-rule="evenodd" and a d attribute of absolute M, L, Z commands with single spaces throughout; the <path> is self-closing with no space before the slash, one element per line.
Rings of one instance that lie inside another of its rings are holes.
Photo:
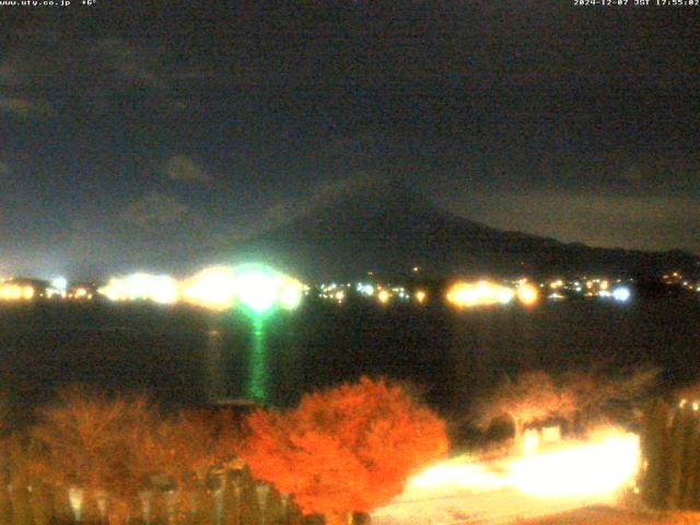
<path fill-rule="evenodd" d="M 412 478 L 372 514 L 374 525 L 495 525 L 612 504 L 637 471 L 639 440 L 617 434 L 561 442 L 487 463 L 457 457 Z"/>

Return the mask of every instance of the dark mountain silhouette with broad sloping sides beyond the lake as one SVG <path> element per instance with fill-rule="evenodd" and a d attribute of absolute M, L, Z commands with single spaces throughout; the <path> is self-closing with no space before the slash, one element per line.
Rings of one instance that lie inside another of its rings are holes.
<path fill-rule="evenodd" d="M 368 271 L 406 277 L 696 273 L 681 250 L 597 248 L 503 231 L 436 207 L 400 182 L 364 185 L 247 240 L 238 257 L 270 261 L 312 279 L 355 279 Z"/>

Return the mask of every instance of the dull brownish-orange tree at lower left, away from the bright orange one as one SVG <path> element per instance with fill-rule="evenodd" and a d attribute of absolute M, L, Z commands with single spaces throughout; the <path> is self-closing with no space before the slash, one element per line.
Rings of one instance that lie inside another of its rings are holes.
<path fill-rule="evenodd" d="M 58 393 L 58 402 L 39 413 L 32 430 L 37 446 L 32 469 L 46 482 L 84 489 L 88 497 L 108 498 L 110 525 L 124 524 L 138 491 L 154 465 L 137 459 L 153 424 L 142 397 L 107 398 L 82 387 Z"/>

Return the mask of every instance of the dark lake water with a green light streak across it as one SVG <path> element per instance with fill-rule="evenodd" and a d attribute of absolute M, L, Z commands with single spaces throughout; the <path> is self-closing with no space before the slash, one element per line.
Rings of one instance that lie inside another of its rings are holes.
<path fill-rule="evenodd" d="M 86 383 L 147 390 L 172 405 L 257 395 L 290 405 L 362 374 L 410 380 L 444 413 L 500 374 L 657 363 L 664 380 L 700 377 L 700 301 L 571 301 L 453 312 L 442 306 L 307 304 L 257 325 L 149 305 L 0 308 L 0 390 L 24 406 Z"/>

